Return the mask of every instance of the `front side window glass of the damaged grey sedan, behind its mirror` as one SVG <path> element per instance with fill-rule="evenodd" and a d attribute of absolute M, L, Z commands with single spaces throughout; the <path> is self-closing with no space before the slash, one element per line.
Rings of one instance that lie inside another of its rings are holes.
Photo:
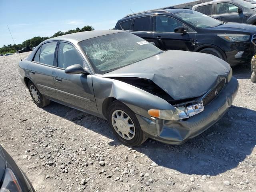
<path fill-rule="evenodd" d="M 63 42 L 60 42 L 58 47 L 57 64 L 58 67 L 63 69 L 74 64 L 80 64 L 84 67 L 83 59 L 74 46 Z"/>

